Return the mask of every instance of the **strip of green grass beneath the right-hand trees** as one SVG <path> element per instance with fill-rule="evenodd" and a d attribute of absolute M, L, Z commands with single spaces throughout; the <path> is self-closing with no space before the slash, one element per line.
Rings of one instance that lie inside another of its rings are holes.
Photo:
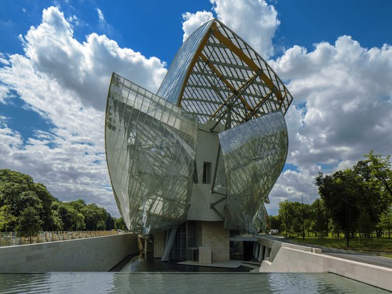
<path fill-rule="evenodd" d="M 392 239 L 389 238 L 371 238 L 367 240 L 351 238 L 349 247 L 346 247 L 346 239 L 344 238 L 305 237 L 305 240 L 302 240 L 301 237 L 298 237 L 293 240 L 296 243 L 308 243 L 330 248 L 368 251 L 374 255 L 392 258 Z"/>

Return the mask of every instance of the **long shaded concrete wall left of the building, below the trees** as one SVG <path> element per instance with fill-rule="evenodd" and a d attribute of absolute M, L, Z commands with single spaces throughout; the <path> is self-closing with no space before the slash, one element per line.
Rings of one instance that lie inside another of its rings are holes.
<path fill-rule="evenodd" d="M 130 233 L 2 247 L 0 272 L 108 271 L 138 252 L 138 235 Z"/>

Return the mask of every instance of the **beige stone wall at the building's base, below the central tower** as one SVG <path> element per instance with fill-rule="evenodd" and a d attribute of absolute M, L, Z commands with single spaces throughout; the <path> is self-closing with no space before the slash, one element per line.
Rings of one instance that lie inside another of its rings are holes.
<path fill-rule="evenodd" d="M 222 221 L 202 222 L 202 246 L 211 247 L 213 262 L 230 259 L 229 237 L 230 231 L 223 228 Z"/>

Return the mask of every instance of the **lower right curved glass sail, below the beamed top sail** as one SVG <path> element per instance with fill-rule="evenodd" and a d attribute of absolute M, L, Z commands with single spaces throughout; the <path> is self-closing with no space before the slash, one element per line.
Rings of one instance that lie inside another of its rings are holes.
<path fill-rule="evenodd" d="M 283 113 L 268 113 L 218 136 L 227 178 L 225 226 L 231 230 L 258 231 L 263 223 L 260 209 L 287 158 Z"/>

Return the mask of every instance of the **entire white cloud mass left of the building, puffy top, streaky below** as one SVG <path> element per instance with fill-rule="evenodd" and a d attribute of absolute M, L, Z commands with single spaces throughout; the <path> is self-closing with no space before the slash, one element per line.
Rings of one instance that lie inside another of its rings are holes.
<path fill-rule="evenodd" d="M 41 24 L 21 37 L 24 54 L 0 55 L 0 102 L 9 103 L 16 93 L 52 126 L 21 138 L 1 117 L 0 168 L 30 174 L 61 200 L 84 198 L 118 216 L 103 141 L 110 74 L 156 91 L 165 64 L 96 33 L 80 43 L 71 21 L 56 7 L 44 9 Z"/>

